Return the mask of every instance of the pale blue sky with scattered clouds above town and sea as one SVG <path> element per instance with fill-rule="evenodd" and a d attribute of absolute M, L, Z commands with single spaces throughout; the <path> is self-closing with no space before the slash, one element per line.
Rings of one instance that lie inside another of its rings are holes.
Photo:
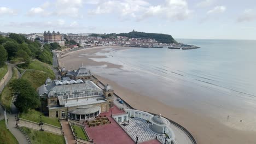
<path fill-rule="evenodd" d="M 256 39 L 255 0 L 0 0 L 0 31 Z"/>

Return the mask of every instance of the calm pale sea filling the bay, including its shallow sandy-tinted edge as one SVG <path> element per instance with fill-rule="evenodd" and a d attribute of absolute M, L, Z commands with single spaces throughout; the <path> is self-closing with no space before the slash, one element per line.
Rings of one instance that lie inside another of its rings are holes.
<path fill-rule="evenodd" d="M 193 50 L 135 48 L 92 58 L 123 65 L 96 74 L 167 105 L 188 109 L 231 127 L 256 129 L 256 40 L 177 39 Z M 111 49 L 111 48 L 107 48 Z M 243 121 L 243 125 L 236 125 Z"/>

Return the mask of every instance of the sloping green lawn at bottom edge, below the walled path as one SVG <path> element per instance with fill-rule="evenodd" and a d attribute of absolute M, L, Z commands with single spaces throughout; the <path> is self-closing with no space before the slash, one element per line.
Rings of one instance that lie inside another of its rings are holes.
<path fill-rule="evenodd" d="M 24 130 L 28 137 L 30 137 L 31 143 L 33 144 L 41 144 L 41 143 L 51 143 L 51 144 L 59 144 L 65 143 L 65 139 L 62 135 L 55 135 L 51 133 L 47 133 L 45 131 L 38 131 L 33 129 L 28 129 L 25 127 L 21 127 L 20 129 Z"/>

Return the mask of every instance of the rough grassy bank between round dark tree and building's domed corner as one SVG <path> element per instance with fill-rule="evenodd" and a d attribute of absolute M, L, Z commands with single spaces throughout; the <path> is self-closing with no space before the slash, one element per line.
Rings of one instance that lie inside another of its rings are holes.
<path fill-rule="evenodd" d="M 47 77 L 51 79 L 55 78 L 54 74 L 45 73 L 44 71 L 39 70 L 27 70 L 21 77 L 21 79 L 25 79 L 31 82 L 32 86 L 37 89 L 38 87 L 44 85 Z"/>

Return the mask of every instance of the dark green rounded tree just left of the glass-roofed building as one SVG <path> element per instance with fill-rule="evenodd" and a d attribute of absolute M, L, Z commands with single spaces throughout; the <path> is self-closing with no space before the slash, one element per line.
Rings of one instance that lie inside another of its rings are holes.
<path fill-rule="evenodd" d="M 27 112 L 29 109 L 36 109 L 39 104 L 38 93 L 27 80 L 13 80 L 10 82 L 11 92 L 16 95 L 14 105 L 20 112 Z"/>

